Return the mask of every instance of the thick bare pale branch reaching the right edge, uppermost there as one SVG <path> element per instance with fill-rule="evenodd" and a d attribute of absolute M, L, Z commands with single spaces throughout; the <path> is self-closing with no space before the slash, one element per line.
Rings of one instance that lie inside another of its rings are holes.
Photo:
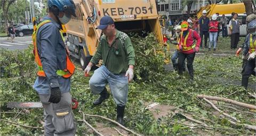
<path fill-rule="evenodd" d="M 231 100 L 231 99 L 227 99 L 227 98 L 221 98 L 221 97 L 215 97 L 215 96 L 206 96 L 206 95 L 197 95 L 197 97 L 198 98 L 206 98 L 206 99 L 210 99 L 210 100 L 225 101 L 227 103 L 234 104 L 234 105 L 237 105 L 237 106 L 242 106 L 242 107 L 246 107 L 246 108 L 250 108 L 250 109 L 256 109 L 256 106 L 254 106 L 254 105 L 241 103 L 239 101 Z"/>

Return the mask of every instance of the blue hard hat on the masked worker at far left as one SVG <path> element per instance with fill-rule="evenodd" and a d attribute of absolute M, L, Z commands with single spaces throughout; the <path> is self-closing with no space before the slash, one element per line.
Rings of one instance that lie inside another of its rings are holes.
<path fill-rule="evenodd" d="M 48 7 L 56 6 L 60 12 L 65 12 L 76 17 L 76 6 L 73 0 L 48 0 Z"/>

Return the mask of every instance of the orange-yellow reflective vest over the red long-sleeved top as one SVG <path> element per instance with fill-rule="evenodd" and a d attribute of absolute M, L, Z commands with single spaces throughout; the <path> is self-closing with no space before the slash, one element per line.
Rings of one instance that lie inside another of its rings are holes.
<path fill-rule="evenodd" d="M 187 52 L 188 50 L 194 49 L 196 47 L 196 44 L 187 47 L 187 39 L 188 39 L 188 36 L 191 32 L 193 32 L 192 29 L 189 30 L 189 32 L 187 33 L 187 35 L 184 39 L 184 43 L 182 43 L 182 40 L 180 40 L 180 39 L 182 39 L 183 31 L 181 31 L 181 34 L 177 39 L 177 41 L 178 41 L 178 45 L 176 46 L 177 50 L 180 50 L 179 44 L 181 44 L 182 51 L 184 51 L 184 52 Z M 193 35 L 193 33 L 192 33 L 192 35 Z"/>

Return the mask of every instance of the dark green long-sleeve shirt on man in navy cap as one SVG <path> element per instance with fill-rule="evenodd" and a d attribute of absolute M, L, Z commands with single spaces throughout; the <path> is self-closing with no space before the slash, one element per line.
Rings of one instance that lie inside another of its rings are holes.
<path fill-rule="evenodd" d="M 103 60 L 102 65 L 105 65 L 110 72 L 119 74 L 125 73 L 129 65 L 135 65 L 134 58 L 131 39 L 126 33 L 116 30 L 116 38 L 111 46 L 107 42 L 107 36 L 101 36 L 91 62 L 98 64 L 100 60 Z"/>

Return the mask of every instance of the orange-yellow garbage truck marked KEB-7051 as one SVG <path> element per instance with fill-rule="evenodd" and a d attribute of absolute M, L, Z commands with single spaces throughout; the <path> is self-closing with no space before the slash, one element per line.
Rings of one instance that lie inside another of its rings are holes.
<path fill-rule="evenodd" d="M 65 25 L 70 55 L 79 59 L 82 69 L 97 50 L 101 30 L 96 29 L 100 19 L 111 16 L 118 30 L 129 32 L 154 32 L 163 43 L 161 25 L 155 0 L 73 0 L 76 17 Z"/>

